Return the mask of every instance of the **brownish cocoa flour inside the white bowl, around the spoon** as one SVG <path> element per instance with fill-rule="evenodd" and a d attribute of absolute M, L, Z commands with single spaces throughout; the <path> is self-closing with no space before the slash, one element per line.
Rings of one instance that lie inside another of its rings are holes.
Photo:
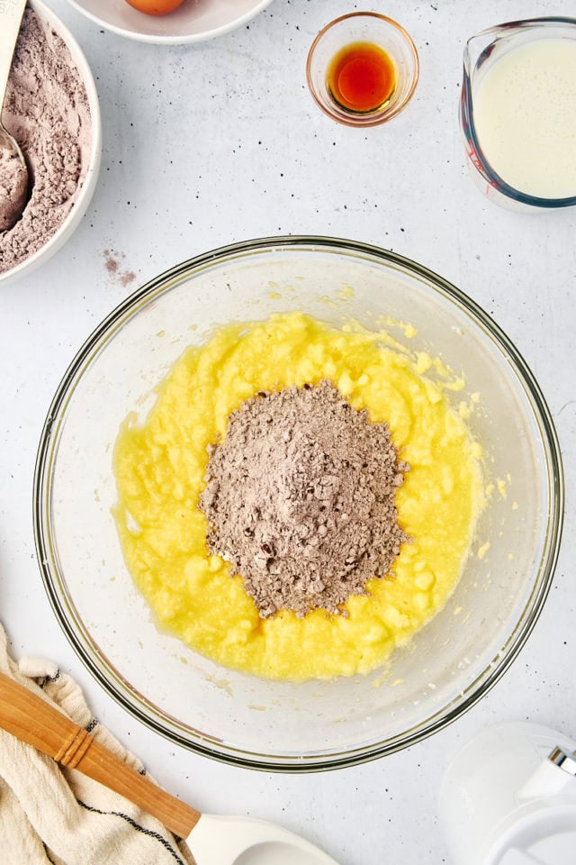
<path fill-rule="evenodd" d="M 0 273 L 58 231 L 75 204 L 91 150 L 84 83 L 65 42 L 30 8 L 16 43 L 2 120 L 23 150 L 31 194 L 22 219 L 0 231 Z"/>

